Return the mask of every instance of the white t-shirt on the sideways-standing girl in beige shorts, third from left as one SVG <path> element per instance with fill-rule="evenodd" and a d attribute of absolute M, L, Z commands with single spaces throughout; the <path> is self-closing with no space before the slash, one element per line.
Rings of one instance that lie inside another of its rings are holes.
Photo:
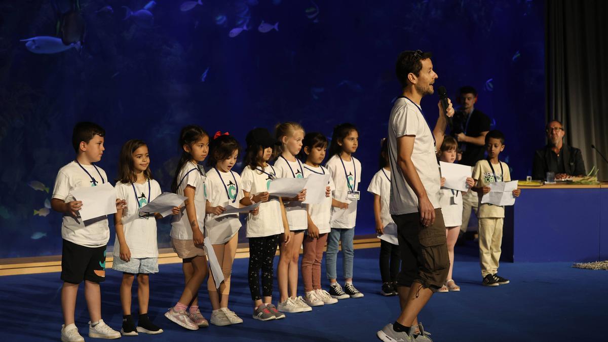
<path fill-rule="evenodd" d="M 196 220 L 201 232 L 205 231 L 205 209 L 207 206 L 207 196 L 205 194 L 205 182 L 207 175 L 202 166 L 187 162 L 178 173 L 178 195 L 184 195 L 184 189 L 189 185 L 195 188 L 194 206 L 196 209 Z M 192 240 L 192 228 L 188 222 L 188 214 L 185 206 L 178 215 L 173 215 L 171 220 L 171 237 L 177 240 Z"/>

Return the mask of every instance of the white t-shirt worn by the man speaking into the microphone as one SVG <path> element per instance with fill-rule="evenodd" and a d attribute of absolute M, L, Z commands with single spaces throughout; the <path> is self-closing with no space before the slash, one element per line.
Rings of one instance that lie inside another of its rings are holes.
<path fill-rule="evenodd" d="M 418 197 L 407 184 L 397 164 L 397 138 L 415 136 L 412 162 L 418 172 L 430 203 L 439 206 L 441 176 L 435 155 L 435 140 L 420 107 L 404 97 L 395 100 L 389 119 L 389 161 L 393 173 L 390 185 L 390 213 L 393 215 L 418 212 Z"/>

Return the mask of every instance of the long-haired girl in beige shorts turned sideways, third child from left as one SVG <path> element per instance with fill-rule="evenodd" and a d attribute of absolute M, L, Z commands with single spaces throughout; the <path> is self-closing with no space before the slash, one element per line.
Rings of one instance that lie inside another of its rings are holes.
<path fill-rule="evenodd" d="M 182 150 L 171 191 L 187 197 L 185 206 L 171 222 L 171 245 L 182 259 L 184 271 L 184 291 L 174 307 L 165 317 L 190 330 L 208 327 L 198 308 L 198 290 L 207 277 L 207 258 L 204 245 L 205 209 L 205 170 L 199 165 L 209 153 L 209 134 L 201 127 L 190 125 L 182 128 L 179 134 L 179 148 Z M 188 304 L 190 309 L 188 309 Z"/>

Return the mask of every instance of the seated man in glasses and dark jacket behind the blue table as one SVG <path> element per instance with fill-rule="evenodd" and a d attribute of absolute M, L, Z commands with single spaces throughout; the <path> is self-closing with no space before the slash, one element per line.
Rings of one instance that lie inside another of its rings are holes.
<path fill-rule="evenodd" d="M 553 120 L 546 128 L 549 143 L 534 153 L 532 178 L 544 180 L 549 171 L 555 172 L 556 180 L 585 175 L 581 150 L 564 144 L 565 132 L 562 123 Z"/>

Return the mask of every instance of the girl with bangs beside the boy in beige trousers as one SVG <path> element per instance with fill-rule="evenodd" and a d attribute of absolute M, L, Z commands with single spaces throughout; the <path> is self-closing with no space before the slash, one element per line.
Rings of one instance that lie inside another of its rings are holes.
<path fill-rule="evenodd" d="M 439 150 L 439 160 L 443 162 L 454 162 L 458 142 L 452 136 L 445 136 L 441 148 Z M 447 255 L 450 259 L 450 270 L 447 273 L 446 283 L 437 290 L 438 292 L 460 291 L 460 286 L 456 285 L 452 279 L 452 270 L 454 269 L 454 246 L 458 240 L 458 232 L 462 224 L 462 194 L 459 190 L 447 189 L 444 186 L 446 178 L 441 177 L 441 189 L 439 190 L 439 205 L 441 206 L 441 214 L 443 221 L 446 224 L 447 237 Z M 466 184 L 469 187 L 475 185 L 473 178 L 466 178 Z"/>

